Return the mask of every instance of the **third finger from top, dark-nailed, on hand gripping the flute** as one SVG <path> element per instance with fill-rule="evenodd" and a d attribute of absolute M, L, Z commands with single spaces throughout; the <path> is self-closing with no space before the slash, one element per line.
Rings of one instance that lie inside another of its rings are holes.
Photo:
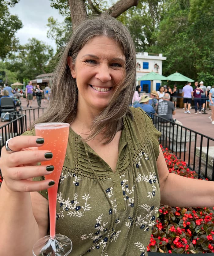
<path fill-rule="evenodd" d="M 10 179 L 23 180 L 49 175 L 52 173 L 53 165 L 18 166 L 10 168 Z"/>

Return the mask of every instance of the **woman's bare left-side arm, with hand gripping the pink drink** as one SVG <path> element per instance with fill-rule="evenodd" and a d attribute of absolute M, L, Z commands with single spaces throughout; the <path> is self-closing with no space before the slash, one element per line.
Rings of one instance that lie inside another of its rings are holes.
<path fill-rule="evenodd" d="M 17 136 L 9 141 L 8 152 L 2 148 L 0 168 L 3 182 L 0 189 L 0 256 L 32 255 L 33 245 L 46 235 L 48 229 L 48 201 L 34 191 L 50 187 L 50 179 L 33 182 L 32 177 L 48 175 L 47 165 L 36 163 L 47 160 L 38 136 Z M 35 150 L 25 150 L 34 147 Z"/>

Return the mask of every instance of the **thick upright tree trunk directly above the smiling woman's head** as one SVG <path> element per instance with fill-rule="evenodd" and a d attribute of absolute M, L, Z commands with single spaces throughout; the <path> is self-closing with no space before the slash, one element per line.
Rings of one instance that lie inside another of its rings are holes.
<path fill-rule="evenodd" d="M 72 28 L 75 29 L 81 20 L 87 17 L 87 11 L 84 0 L 68 0 L 71 11 Z"/>

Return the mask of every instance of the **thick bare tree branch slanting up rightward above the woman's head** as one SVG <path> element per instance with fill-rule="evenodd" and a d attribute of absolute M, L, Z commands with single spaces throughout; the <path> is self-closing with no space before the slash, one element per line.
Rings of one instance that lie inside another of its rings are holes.
<path fill-rule="evenodd" d="M 110 14 L 112 17 L 116 18 L 120 16 L 121 13 L 125 12 L 132 6 L 137 6 L 139 0 L 120 0 L 111 6 L 104 13 Z"/>

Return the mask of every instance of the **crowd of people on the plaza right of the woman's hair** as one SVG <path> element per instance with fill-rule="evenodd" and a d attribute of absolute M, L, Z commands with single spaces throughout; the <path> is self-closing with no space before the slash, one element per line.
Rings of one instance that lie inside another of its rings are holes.
<path fill-rule="evenodd" d="M 190 109 L 192 108 L 191 104 L 193 100 L 195 114 L 201 114 L 202 112 L 206 111 L 207 108 L 209 108 L 209 111 L 212 111 L 212 113 L 208 118 L 212 124 L 214 124 L 214 86 L 212 86 L 212 88 L 211 86 L 206 87 L 203 81 L 200 83 L 196 81 L 194 85 L 195 88 L 191 86 L 191 82 L 187 82 L 182 88 L 184 113 L 191 114 Z M 158 91 L 151 91 L 149 95 L 150 97 L 146 97 L 148 101 L 146 101 L 144 95 L 140 95 L 140 92 L 141 86 L 138 85 L 132 100 L 133 107 L 141 107 L 144 111 L 150 114 L 161 115 L 170 121 L 175 120 L 172 118 L 172 115 L 175 115 L 175 109 L 177 108 L 177 100 L 179 96 L 179 90 L 176 84 L 173 86 L 173 88 L 171 88 L 169 85 L 163 85 L 160 86 Z M 163 101 L 164 104 L 161 104 Z M 170 101 L 172 101 L 172 104 Z M 163 111 L 163 106 L 165 106 L 165 111 Z"/>

